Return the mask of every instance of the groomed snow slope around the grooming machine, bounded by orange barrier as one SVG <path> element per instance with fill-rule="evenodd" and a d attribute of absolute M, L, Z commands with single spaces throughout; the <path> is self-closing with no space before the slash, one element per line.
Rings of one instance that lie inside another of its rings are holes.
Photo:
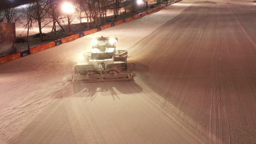
<path fill-rule="evenodd" d="M 256 143 L 256 4 L 183 0 L 0 65 L 0 143 Z M 71 84 L 118 37 L 134 81 Z"/>

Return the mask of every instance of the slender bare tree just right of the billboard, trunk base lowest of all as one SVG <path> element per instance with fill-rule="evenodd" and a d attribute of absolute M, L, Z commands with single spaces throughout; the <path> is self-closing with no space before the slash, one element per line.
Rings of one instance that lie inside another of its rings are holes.
<path fill-rule="evenodd" d="M 33 14 L 33 4 L 28 4 L 23 10 L 22 10 L 23 15 L 26 16 L 26 24 L 23 26 L 25 29 L 27 29 L 27 44 L 28 44 L 28 49 L 30 49 L 29 46 L 29 39 L 28 39 L 28 34 L 29 30 L 31 30 L 32 27 L 32 14 Z"/>

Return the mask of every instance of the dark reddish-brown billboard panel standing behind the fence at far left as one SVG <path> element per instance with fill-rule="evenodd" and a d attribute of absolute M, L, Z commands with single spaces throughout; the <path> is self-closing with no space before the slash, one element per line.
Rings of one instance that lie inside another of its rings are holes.
<path fill-rule="evenodd" d="M 0 22 L 0 57 L 16 53 L 15 23 Z"/>

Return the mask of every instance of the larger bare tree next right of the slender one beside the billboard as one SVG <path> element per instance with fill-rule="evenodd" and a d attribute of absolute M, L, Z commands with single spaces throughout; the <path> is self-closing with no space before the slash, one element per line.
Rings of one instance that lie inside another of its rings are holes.
<path fill-rule="evenodd" d="M 31 17 L 34 18 L 38 23 L 40 41 L 43 41 L 42 28 L 45 27 L 50 22 L 52 22 L 52 20 L 46 21 L 45 19 L 45 15 L 47 14 L 48 4 L 49 4 L 49 0 L 35 0 L 33 2 L 33 15 L 31 15 Z"/>

